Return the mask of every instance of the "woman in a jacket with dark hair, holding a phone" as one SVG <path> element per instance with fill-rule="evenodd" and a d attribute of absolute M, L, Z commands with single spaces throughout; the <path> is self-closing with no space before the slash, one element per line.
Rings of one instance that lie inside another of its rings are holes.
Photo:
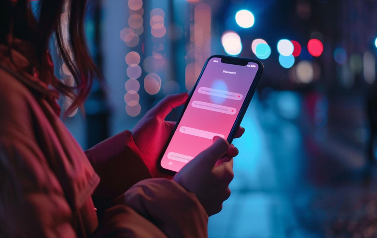
<path fill-rule="evenodd" d="M 182 93 L 159 102 L 132 132 L 83 152 L 61 122 L 56 99 L 74 99 L 70 113 L 83 105 L 92 78 L 101 77 L 84 42 L 86 1 L 69 0 L 68 29 L 60 24 L 63 2 L 40 0 L 37 20 L 27 0 L 1 0 L 0 236 L 207 237 L 208 215 L 230 195 L 238 150 L 214 138 L 173 178 L 158 172 L 174 126 L 164 118 L 185 103 Z M 52 33 L 75 87 L 54 76 Z"/>

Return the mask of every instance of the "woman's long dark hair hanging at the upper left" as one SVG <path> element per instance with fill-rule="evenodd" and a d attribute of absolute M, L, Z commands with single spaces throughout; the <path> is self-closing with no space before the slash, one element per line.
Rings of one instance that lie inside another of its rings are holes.
<path fill-rule="evenodd" d="M 82 106 L 92 87 L 93 78 L 97 77 L 103 83 L 103 77 L 93 63 L 85 41 L 83 26 L 87 0 L 40 0 L 38 9 L 31 9 L 29 0 L 0 0 L 0 4 L 0 43 L 9 48 L 14 39 L 32 44 L 36 59 L 30 59 L 27 55 L 26 58 L 39 66 L 40 79 L 74 99 L 65 115 L 77 106 Z M 65 4 L 67 7 L 64 9 Z M 63 21 L 67 22 L 62 21 L 63 11 L 68 16 Z M 54 74 L 47 53 L 53 33 L 60 55 L 75 79 L 75 86 L 66 85 L 56 77 L 48 77 Z M 46 93 L 46 89 L 38 85 L 31 87 L 37 92 Z"/>

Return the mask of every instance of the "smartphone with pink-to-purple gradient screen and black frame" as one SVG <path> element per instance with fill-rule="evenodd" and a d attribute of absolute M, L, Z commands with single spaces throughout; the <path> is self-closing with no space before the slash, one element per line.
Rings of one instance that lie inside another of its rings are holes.
<path fill-rule="evenodd" d="M 255 59 L 207 59 L 158 161 L 160 170 L 175 174 L 216 135 L 231 143 L 262 72 L 262 62 Z"/>

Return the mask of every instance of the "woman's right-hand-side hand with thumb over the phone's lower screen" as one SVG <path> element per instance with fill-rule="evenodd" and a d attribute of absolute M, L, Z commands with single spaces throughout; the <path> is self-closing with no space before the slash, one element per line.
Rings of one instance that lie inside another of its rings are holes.
<path fill-rule="evenodd" d="M 222 202 L 230 196 L 233 179 L 233 157 L 238 149 L 219 137 L 213 144 L 187 163 L 173 180 L 198 197 L 207 214 L 221 211 Z"/>

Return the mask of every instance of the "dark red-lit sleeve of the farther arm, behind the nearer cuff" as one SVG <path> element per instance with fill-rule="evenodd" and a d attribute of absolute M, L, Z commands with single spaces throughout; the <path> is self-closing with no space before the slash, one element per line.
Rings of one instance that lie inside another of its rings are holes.
<path fill-rule="evenodd" d="M 129 130 L 106 139 L 85 153 L 101 178 L 92 196 L 98 209 L 106 208 L 109 201 L 135 183 L 152 177 Z"/>

